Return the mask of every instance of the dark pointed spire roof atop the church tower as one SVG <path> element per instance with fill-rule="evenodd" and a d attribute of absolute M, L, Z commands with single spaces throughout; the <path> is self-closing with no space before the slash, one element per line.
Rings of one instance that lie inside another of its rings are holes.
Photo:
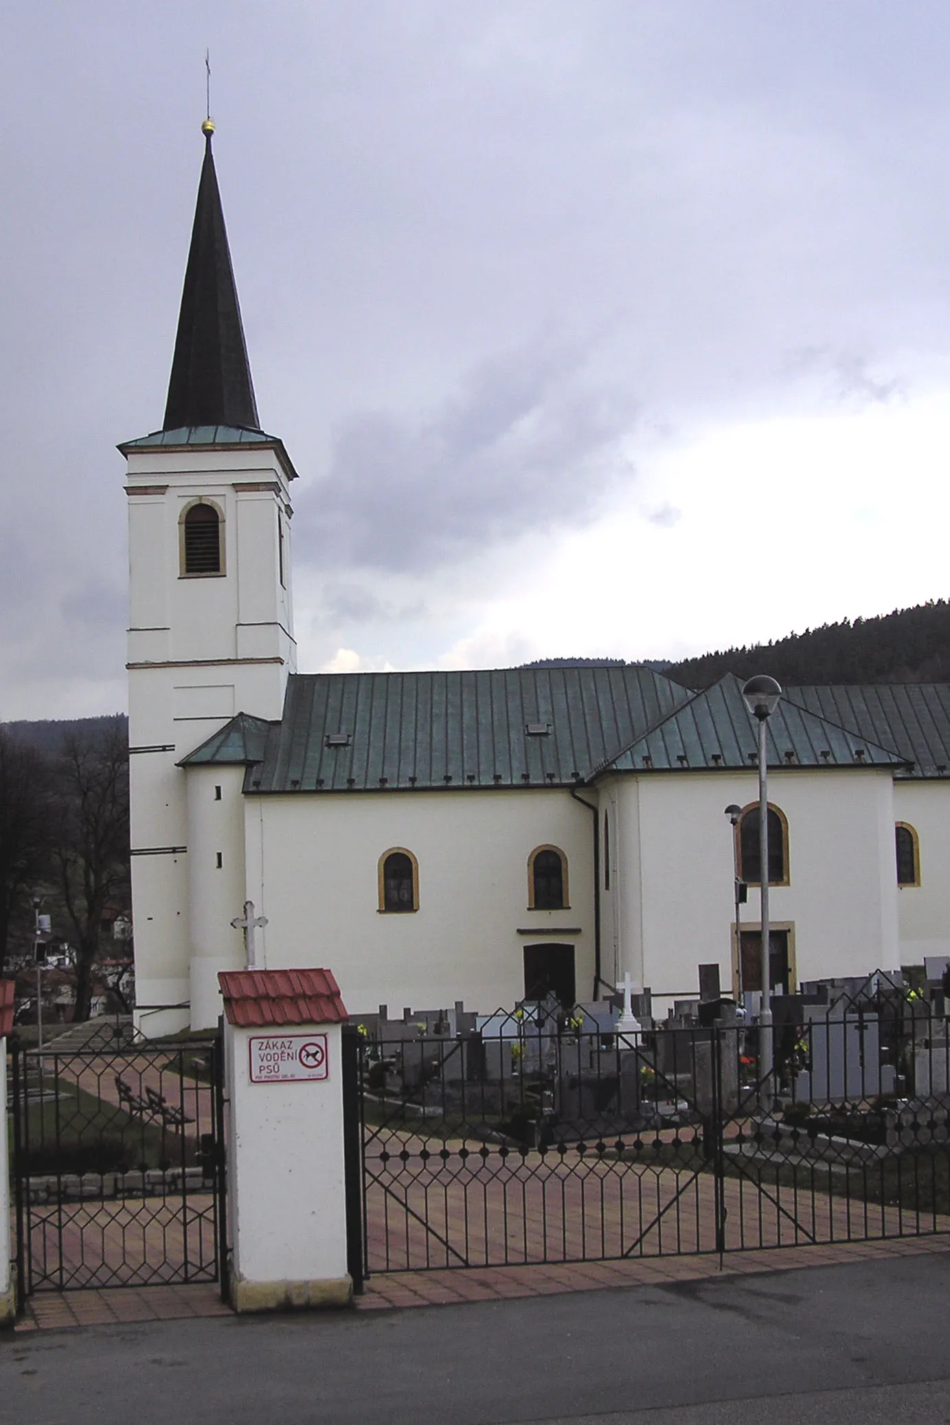
<path fill-rule="evenodd" d="M 244 426 L 259 430 L 238 289 L 211 152 L 209 123 L 198 184 L 195 225 L 181 294 L 175 355 L 162 430 Z"/>

